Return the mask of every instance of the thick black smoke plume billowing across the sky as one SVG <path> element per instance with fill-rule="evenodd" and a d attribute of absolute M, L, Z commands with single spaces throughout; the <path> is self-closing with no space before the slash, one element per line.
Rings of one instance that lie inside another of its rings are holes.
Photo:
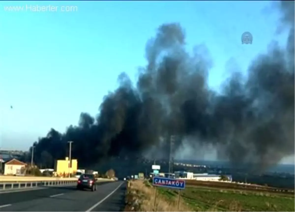
<path fill-rule="evenodd" d="M 137 84 L 119 75 L 119 87 L 104 97 L 97 117 L 81 113 L 78 126 L 65 133 L 51 129 L 34 144 L 35 159 L 64 158 L 69 140 L 80 164 L 118 155 L 165 158 L 171 135 L 174 151 L 184 141 L 191 148 L 213 145 L 233 164 L 266 167 L 295 153 L 295 4 L 280 8 L 291 27 L 287 48 L 273 44 L 246 77 L 233 73 L 219 93 L 207 84 L 211 61 L 204 47 L 189 55 L 181 26 L 161 25 L 146 44 L 148 64 Z"/>

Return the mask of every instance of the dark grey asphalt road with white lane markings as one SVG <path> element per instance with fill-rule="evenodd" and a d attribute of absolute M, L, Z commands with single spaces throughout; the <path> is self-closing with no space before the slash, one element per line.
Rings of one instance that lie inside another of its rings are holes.
<path fill-rule="evenodd" d="M 32 191 L 0 193 L 1 212 L 118 212 L 124 207 L 124 181 L 97 183 L 97 191 L 76 186 L 44 187 Z"/>

